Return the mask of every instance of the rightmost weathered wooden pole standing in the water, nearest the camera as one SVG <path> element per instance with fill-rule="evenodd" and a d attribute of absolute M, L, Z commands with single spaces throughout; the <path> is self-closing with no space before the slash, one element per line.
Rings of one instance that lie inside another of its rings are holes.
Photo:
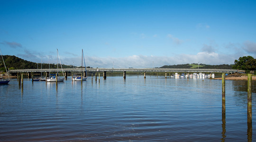
<path fill-rule="evenodd" d="M 252 123 L 252 74 L 248 74 L 247 123 Z"/>

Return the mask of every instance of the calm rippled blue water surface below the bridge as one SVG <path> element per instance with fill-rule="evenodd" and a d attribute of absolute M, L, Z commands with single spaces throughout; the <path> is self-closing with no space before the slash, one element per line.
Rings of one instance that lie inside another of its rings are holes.
<path fill-rule="evenodd" d="M 221 80 L 11 80 L 0 85 L 0 141 L 247 141 L 247 81 L 226 80 L 224 120 L 221 98 Z"/>

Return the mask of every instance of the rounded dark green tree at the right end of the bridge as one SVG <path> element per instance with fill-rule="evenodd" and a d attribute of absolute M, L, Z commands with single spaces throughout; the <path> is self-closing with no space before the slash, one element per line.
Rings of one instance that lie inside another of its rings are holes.
<path fill-rule="evenodd" d="M 235 60 L 235 64 L 232 66 L 233 69 L 245 70 L 247 73 L 256 70 L 256 59 L 252 56 L 240 57 Z"/>

